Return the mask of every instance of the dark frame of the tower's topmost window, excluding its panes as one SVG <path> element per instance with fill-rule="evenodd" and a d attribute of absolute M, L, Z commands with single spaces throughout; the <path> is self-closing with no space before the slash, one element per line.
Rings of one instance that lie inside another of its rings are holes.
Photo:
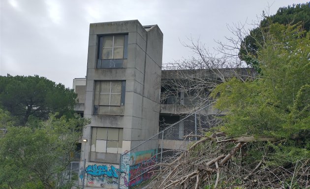
<path fill-rule="evenodd" d="M 113 36 L 112 47 L 103 47 L 104 37 L 109 37 L 109 36 Z M 114 46 L 115 36 L 124 36 L 123 46 Z M 98 44 L 98 55 L 97 55 L 96 68 L 122 68 L 124 67 L 124 60 L 127 59 L 127 55 L 128 55 L 128 33 L 101 35 L 99 36 L 98 43 L 99 44 Z M 115 48 L 121 48 L 121 47 L 123 47 L 123 58 L 118 58 L 118 59 L 113 58 Z M 102 57 L 102 53 L 103 53 L 102 51 L 104 48 L 112 48 L 111 59 L 104 59 Z"/>

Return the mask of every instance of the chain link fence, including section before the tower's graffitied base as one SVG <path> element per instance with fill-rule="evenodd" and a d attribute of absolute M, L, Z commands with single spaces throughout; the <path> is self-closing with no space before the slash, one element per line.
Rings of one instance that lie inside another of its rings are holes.
<path fill-rule="evenodd" d="M 189 143 L 199 140 L 210 127 L 218 125 L 218 117 L 218 114 L 208 114 L 208 111 L 202 108 L 181 117 L 182 119 L 174 124 L 166 124 L 163 121 L 159 126 L 159 133 L 125 152 L 118 159 L 119 165 L 73 161 L 68 164 L 64 173 L 66 181 L 73 186 L 72 189 L 147 188 L 156 171 L 178 158 Z M 93 176 L 92 170 L 104 170 L 104 176 Z"/>

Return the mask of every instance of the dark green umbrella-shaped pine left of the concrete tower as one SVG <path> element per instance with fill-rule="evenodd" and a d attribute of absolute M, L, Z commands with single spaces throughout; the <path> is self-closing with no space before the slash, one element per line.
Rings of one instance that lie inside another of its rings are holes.
<path fill-rule="evenodd" d="M 0 76 L 0 106 L 25 125 L 29 117 L 47 120 L 50 113 L 73 116 L 77 95 L 39 76 Z"/>

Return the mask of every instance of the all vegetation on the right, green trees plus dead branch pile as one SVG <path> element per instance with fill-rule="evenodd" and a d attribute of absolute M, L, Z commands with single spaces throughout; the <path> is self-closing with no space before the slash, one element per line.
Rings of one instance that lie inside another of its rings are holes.
<path fill-rule="evenodd" d="M 251 36 L 260 43 L 251 49 L 255 54 L 244 56 L 256 61 L 252 66 L 259 74 L 230 78 L 215 87 L 211 99 L 226 114 L 220 117 L 222 125 L 165 162 L 151 187 L 310 187 L 310 32 L 304 28 L 308 15 L 297 24 L 269 20 L 259 36 Z M 239 29 L 235 33 L 242 38 Z M 238 50 L 243 50 L 242 40 L 232 40 L 230 47 L 237 47 L 238 41 Z M 229 49 L 221 49 L 225 48 Z"/>

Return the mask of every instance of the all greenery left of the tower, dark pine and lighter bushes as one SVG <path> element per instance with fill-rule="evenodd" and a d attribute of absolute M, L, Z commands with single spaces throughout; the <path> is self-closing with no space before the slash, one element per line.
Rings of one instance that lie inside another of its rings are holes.
<path fill-rule="evenodd" d="M 76 95 L 43 77 L 0 77 L 0 188 L 70 189 L 66 166 L 89 123 Z"/>

